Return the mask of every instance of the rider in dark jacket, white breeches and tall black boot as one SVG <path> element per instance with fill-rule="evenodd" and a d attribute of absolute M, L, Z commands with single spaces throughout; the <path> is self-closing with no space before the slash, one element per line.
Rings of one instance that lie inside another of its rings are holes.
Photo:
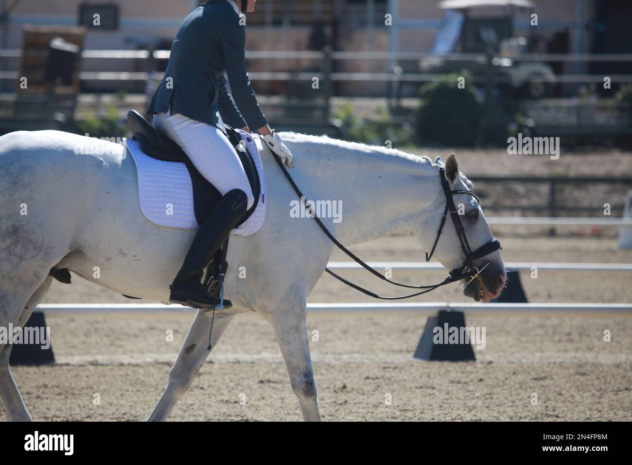
<path fill-rule="evenodd" d="M 153 115 L 154 127 L 182 147 L 200 174 L 222 194 L 200 225 L 171 284 L 169 301 L 174 303 L 204 308 L 219 303 L 202 285 L 202 275 L 254 203 L 240 158 L 220 130 L 219 113 L 232 127 L 246 132 L 256 128 L 270 151 L 294 166 L 291 152 L 259 108 L 246 71 L 243 13 L 252 13 L 256 2 L 209 0 L 193 10 L 180 25 L 164 78 L 147 110 L 147 115 Z"/>

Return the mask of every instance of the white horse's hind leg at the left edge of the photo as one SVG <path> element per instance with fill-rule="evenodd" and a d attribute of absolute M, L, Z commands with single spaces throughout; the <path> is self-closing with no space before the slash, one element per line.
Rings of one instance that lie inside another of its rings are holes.
<path fill-rule="evenodd" d="M 21 328 L 25 325 L 33 313 L 35 306 L 39 304 L 39 301 L 44 294 L 46 294 L 48 288 L 51 287 L 51 282 L 52 276 L 48 276 L 46 280 L 44 280 L 44 283 L 42 283 L 28 299 L 26 304 L 23 303 L 23 299 L 20 304 L 17 304 L 23 306 L 18 318 L 15 318 L 15 321 L 11 321 L 9 318 L 0 318 L 0 326 L 8 328 L 8 323 L 13 323 L 14 327 L 20 326 Z M 3 303 L 10 305 L 7 301 Z M 6 312 L 3 312 L 3 310 L 6 310 Z M 0 316 L 8 316 L 9 314 L 10 308 L 5 307 L 3 309 L 0 307 Z M 28 413 L 27 406 L 24 404 L 24 400 L 15 384 L 15 380 L 13 380 L 13 375 L 11 375 L 11 369 L 9 369 L 9 356 L 11 355 L 12 348 L 13 345 L 0 345 L 0 398 L 3 400 L 4 410 L 6 411 L 6 416 L 9 421 L 31 421 L 30 413 Z"/>

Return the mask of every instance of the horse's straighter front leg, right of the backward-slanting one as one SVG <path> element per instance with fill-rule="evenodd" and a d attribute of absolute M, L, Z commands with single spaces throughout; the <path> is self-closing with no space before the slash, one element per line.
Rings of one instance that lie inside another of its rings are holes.
<path fill-rule="evenodd" d="M 274 328 L 279 348 L 288 368 L 292 390 L 301 405 L 305 421 L 320 421 L 316 383 L 307 336 L 307 304 L 276 309 L 267 318 Z"/>

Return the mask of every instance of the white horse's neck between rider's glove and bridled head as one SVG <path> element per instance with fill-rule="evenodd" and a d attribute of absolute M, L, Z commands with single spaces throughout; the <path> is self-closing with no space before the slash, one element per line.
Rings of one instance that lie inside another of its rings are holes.
<path fill-rule="evenodd" d="M 336 238 L 352 245 L 412 233 L 422 210 L 435 201 L 430 193 L 435 190 L 436 171 L 430 161 L 388 154 L 381 147 L 372 150 L 319 139 L 313 143 L 289 140 L 298 166 L 289 173 L 307 200 L 339 201 L 340 221 L 322 218 Z"/>

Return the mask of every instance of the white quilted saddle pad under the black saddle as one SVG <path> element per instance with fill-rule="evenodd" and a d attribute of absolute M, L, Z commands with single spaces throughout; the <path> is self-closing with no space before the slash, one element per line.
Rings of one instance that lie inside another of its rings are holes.
<path fill-rule="evenodd" d="M 253 137 L 237 130 L 257 167 L 261 183 L 261 194 L 257 208 L 250 218 L 231 234 L 247 236 L 259 230 L 265 220 L 264 170 L 257 144 Z M 248 136 L 248 137 L 246 137 Z M 138 173 L 138 199 L 140 210 L 147 220 L 172 228 L 198 229 L 193 209 L 193 184 L 184 163 L 161 161 L 147 156 L 137 140 L 126 140 L 128 151 L 136 163 Z"/>

